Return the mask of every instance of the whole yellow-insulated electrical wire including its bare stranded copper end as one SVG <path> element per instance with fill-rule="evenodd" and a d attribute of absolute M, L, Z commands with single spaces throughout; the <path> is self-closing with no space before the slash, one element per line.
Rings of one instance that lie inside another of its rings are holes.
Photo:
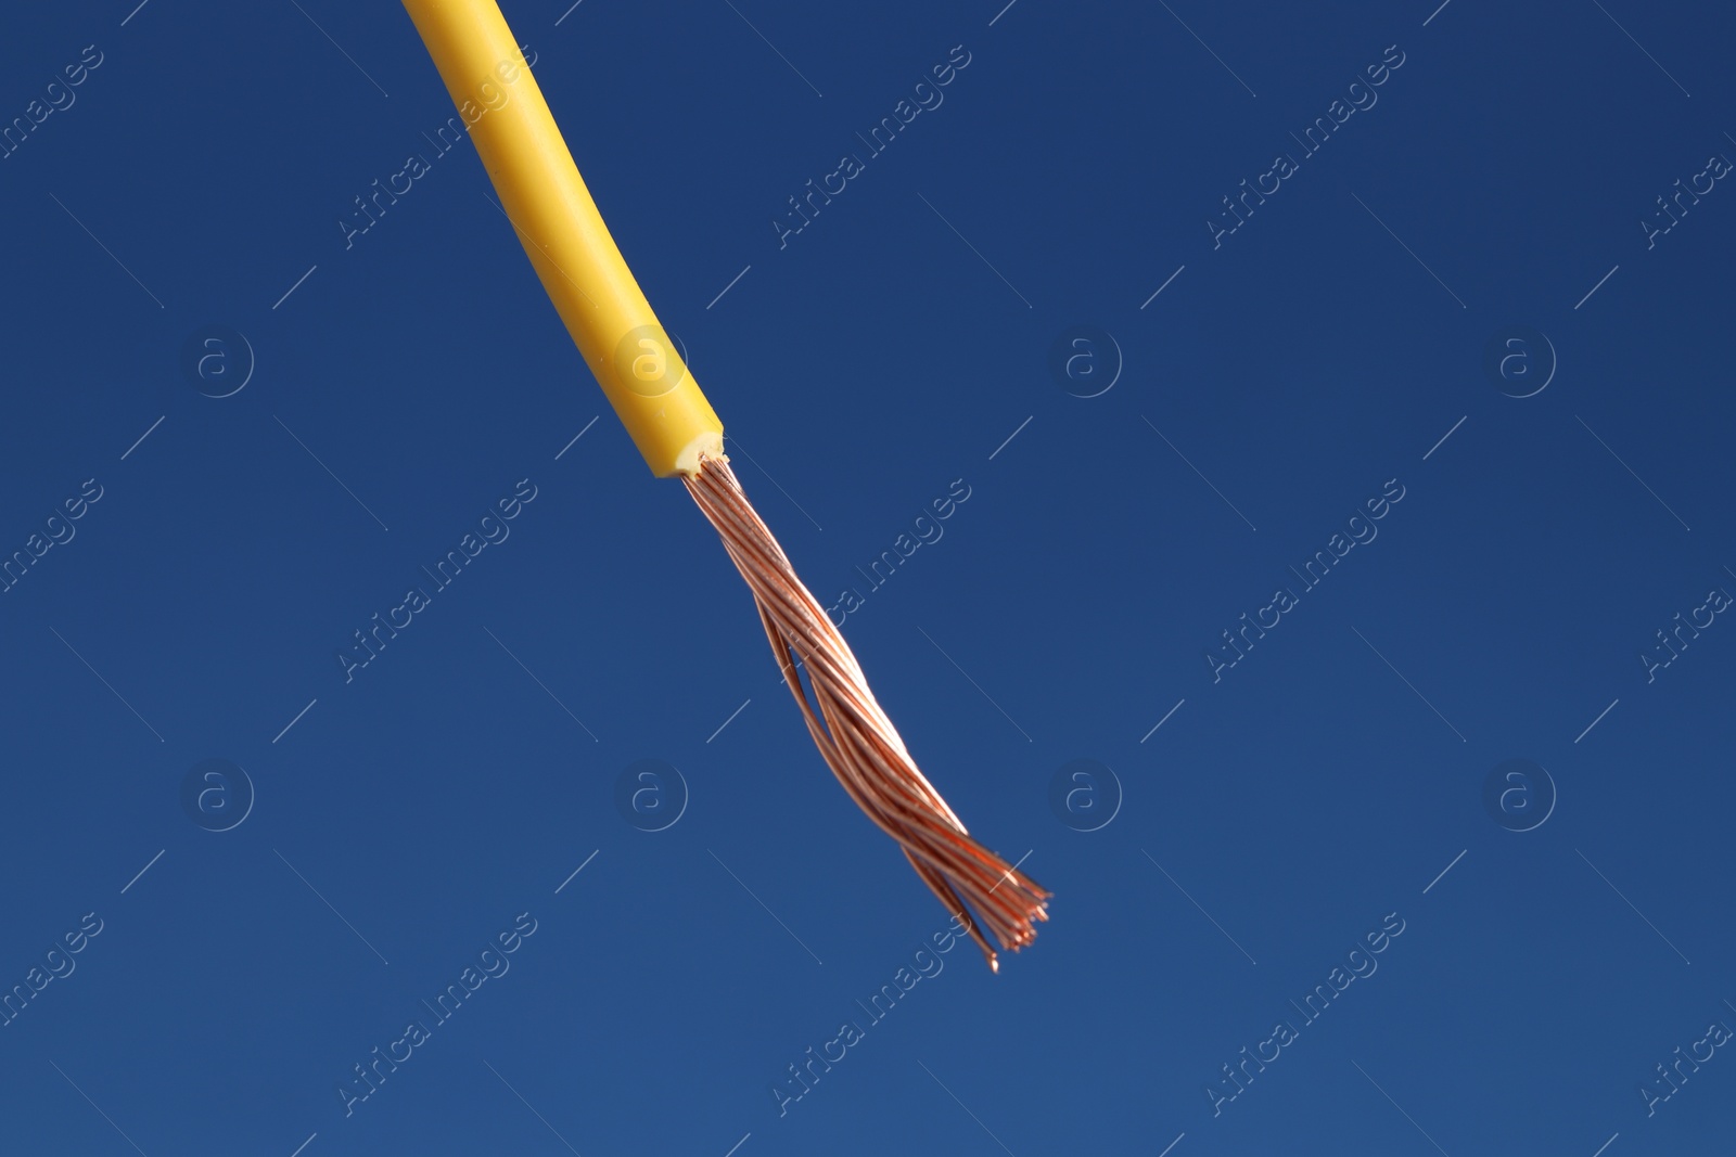
<path fill-rule="evenodd" d="M 1017 951 L 1035 940 L 1050 893 L 972 840 L 917 770 L 849 644 L 741 493 L 724 425 L 609 236 L 496 0 L 403 3 L 597 385 L 651 472 L 687 486 L 753 592 L 819 755 L 998 971 L 995 945 Z"/>

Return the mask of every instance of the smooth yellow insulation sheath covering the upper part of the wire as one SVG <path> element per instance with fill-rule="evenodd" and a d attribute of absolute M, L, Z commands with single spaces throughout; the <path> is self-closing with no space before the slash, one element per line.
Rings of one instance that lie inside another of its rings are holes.
<path fill-rule="evenodd" d="M 403 0 L 524 253 L 658 477 L 722 454 L 724 427 L 590 199 L 495 0 Z"/>

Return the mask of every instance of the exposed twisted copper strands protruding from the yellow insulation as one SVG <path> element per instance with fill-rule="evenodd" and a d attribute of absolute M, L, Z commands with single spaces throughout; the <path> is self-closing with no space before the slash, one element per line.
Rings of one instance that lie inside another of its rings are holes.
<path fill-rule="evenodd" d="M 972 840 L 917 770 L 892 720 L 875 703 L 849 644 L 795 576 L 729 461 L 701 456 L 700 470 L 682 480 L 752 588 L 766 638 L 832 774 L 868 819 L 898 840 L 910 866 L 946 911 L 960 918 L 990 970 L 998 971 L 995 949 L 979 921 L 1003 949 L 1019 951 L 1036 938 L 1033 921 L 1049 919 L 1050 893 Z M 804 664 L 814 703 L 797 673 Z"/>

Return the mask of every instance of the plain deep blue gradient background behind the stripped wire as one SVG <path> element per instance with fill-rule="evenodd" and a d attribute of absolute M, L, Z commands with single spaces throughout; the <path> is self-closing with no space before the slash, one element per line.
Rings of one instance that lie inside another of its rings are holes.
<path fill-rule="evenodd" d="M 1736 1025 L 1736 628 L 1651 682 L 1637 656 L 1736 592 L 1736 193 L 1651 248 L 1639 222 L 1736 156 L 1736 17 L 1432 7 L 505 3 L 759 510 L 823 602 L 865 593 L 844 630 L 917 760 L 1055 893 L 1033 949 L 939 958 L 783 1115 L 771 1086 L 946 916 L 474 147 L 345 248 L 453 113 L 406 14 L 9 10 L 0 120 L 102 62 L 0 160 L 0 552 L 102 498 L 0 595 L 0 987 L 102 931 L 0 1029 L 3 1148 L 1727 1147 L 1726 1049 L 1651 1115 L 1639 1089 Z M 944 104 L 779 248 L 953 45 Z M 1213 248 L 1389 45 L 1378 102 Z M 255 363 L 222 399 L 182 369 L 210 324 Z M 1111 335 L 1090 389 L 1050 369 L 1071 326 Z M 1522 399 L 1484 369 L 1509 326 L 1554 363 Z M 345 683 L 351 633 L 521 479 L 510 538 Z M 1378 538 L 1213 682 L 1391 479 Z M 208 758 L 255 794 L 229 831 L 181 803 Z M 615 805 L 648 758 L 686 786 L 654 833 Z M 1090 833 L 1050 807 L 1082 758 L 1120 796 Z M 1554 784 L 1521 819 L 1557 796 L 1531 831 L 1483 801 L 1514 758 Z M 345 1115 L 521 912 L 510 971 Z M 1378 971 L 1213 1107 L 1394 912 Z"/>

